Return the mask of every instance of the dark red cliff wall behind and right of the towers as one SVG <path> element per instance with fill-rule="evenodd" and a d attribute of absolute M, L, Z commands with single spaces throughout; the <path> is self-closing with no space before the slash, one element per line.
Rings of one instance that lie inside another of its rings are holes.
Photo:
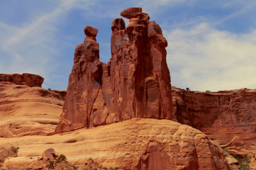
<path fill-rule="evenodd" d="M 233 154 L 256 149 L 256 90 L 189 92 L 172 87 L 172 95 L 173 120 L 202 131 Z"/>

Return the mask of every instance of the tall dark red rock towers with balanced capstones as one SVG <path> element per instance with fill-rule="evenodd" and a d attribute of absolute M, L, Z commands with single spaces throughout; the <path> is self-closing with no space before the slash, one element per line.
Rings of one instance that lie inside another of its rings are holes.
<path fill-rule="evenodd" d="M 172 119 L 167 41 L 142 8 L 127 8 L 112 22 L 108 64 L 99 61 L 98 30 L 85 26 L 75 50 L 66 101 L 56 133 L 131 118 Z"/>

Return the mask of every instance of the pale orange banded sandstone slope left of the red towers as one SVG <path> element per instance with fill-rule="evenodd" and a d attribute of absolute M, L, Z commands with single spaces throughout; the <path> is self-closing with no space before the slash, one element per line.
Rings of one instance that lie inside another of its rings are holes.
<path fill-rule="evenodd" d="M 19 79 L 13 79 L 15 74 L 5 77 L 0 84 L 0 137 L 54 134 L 65 91 L 47 91 L 22 83 L 16 85 L 13 82 L 19 84 Z"/>

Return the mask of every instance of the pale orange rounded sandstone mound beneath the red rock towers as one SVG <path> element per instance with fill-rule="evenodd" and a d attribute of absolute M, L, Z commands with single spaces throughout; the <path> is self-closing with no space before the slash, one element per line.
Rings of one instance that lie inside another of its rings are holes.
<path fill-rule="evenodd" d="M 230 169 L 223 151 L 206 135 L 171 120 L 134 118 L 61 135 L 0 138 L 0 143 L 3 148 L 19 147 L 18 157 L 3 163 L 9 169 L 23 170 L 38 162 L 35 158 L 48 148 L 76 165 L 91 158 L 103 167 L 127 170 Z"/>

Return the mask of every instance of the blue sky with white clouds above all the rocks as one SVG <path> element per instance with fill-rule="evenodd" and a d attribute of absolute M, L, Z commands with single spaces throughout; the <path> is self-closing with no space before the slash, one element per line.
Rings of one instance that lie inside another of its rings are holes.
<path fill-rule="evenodd" d="M 255 0 L 2 0 L 0 73 L 38 74 L 43 88 L 65 90 L 83 27 L 99 30 L 100 61 L 108 63 L 112 20 L 128 7 L 161 26 L 172 86 L 256 88 Z"/>

